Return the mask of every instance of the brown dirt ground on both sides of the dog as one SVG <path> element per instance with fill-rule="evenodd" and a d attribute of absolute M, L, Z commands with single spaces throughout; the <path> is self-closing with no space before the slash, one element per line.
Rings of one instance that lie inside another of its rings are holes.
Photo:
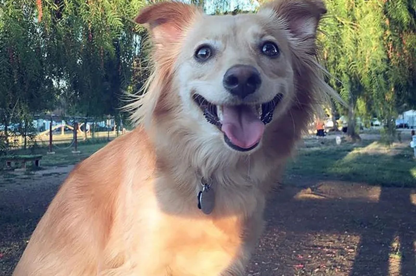
<path fill-rule="evenodd" d="M 0 182 L 0 275 L 72 166 Z M 416 192 L 290 179 L 270 198 L 247 276 L 415 276 Z M 301 184 L 300 184 L 301 183 Z"/>

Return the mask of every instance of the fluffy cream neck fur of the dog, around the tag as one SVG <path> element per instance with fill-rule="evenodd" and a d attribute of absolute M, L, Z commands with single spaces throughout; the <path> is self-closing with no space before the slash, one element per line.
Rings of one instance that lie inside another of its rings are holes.
<path fill-rule="evenodd" d="M 160 198 L 162 208 L 166 203 L 169 204 L 166 210 L 176 210 L 176 215 L 201 215 L 197 208 L 197 194 L 202 188 L 202 177 L 212 179 L 215 192 L 213 216 L 220 213 L 222 216 L 247 217 L 263 206 L 267 185 L 275 177 L 272 168 L 275 173 L 276 164 L 267 160 L 261 149 L 252 155 L 242 155 L 224 148 L 220 139 L 202 141 L 203 138 L 186 129 L 160 122 L 149 128 L 148 133 L 156 150 L 156 191 L 164 190 L 176 195 L 171 197 L 176 198 L 175 202 Z M 211 143 L 209 149 L 202 143 Z"/>

